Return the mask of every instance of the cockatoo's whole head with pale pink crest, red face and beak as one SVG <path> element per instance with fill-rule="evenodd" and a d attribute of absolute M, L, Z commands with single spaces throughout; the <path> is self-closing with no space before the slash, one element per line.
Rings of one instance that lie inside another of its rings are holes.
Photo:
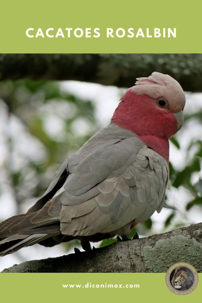
<path fill-rule="evenodd" d="M 169 139 L 183 124 L 184 91 L 169 75 L 154 72 L 138 78 L 114 112 L 112 122 L 140 136 Z"/>

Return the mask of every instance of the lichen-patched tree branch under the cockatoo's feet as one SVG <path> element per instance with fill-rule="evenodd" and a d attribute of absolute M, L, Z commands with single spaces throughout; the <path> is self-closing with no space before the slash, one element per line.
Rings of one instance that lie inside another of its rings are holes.
<path fill-rule="evenodd" d="M 175 262 L 202 271 L 202 223 L 90 252 L 33 260 L 3 272 L 165 272 Z"/>

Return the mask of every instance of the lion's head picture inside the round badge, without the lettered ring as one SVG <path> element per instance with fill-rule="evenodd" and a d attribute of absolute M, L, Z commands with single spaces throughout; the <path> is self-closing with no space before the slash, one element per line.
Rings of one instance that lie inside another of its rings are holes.
<path fill-rule="evenodd" d="M 177 267 L 174 270 L 174 275 L 171 280 L 171 284 L 178 290 L 187 290 L 194 283 L 194 275 L 192 271 L 187 267 Z"/>

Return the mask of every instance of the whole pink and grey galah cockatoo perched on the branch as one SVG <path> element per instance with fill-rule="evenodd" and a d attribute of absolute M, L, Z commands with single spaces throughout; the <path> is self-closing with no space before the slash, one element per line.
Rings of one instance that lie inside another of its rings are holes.
<path fill-rule="evenodd" d="M 39 243 L 90 242 L 121 236 L 164 205 L 169 138 L 183 124 L 184 91 L 169 75 L 137 78 L 111 123 L 59 168 L 26 214 L 0 224 L 0 255 Z"/>

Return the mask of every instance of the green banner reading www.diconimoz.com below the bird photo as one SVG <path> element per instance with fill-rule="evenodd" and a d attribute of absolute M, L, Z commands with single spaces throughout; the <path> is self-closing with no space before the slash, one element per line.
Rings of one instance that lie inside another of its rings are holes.
<path fill-rule="evenodd" d="M 199 280 L 202 274 L 199 274 Z M 201 287 L 189 295 L 172 293 L 165 273 L 1 273 L 1 300 L 19 302 L 125 302 L 200 300 Z"/>

